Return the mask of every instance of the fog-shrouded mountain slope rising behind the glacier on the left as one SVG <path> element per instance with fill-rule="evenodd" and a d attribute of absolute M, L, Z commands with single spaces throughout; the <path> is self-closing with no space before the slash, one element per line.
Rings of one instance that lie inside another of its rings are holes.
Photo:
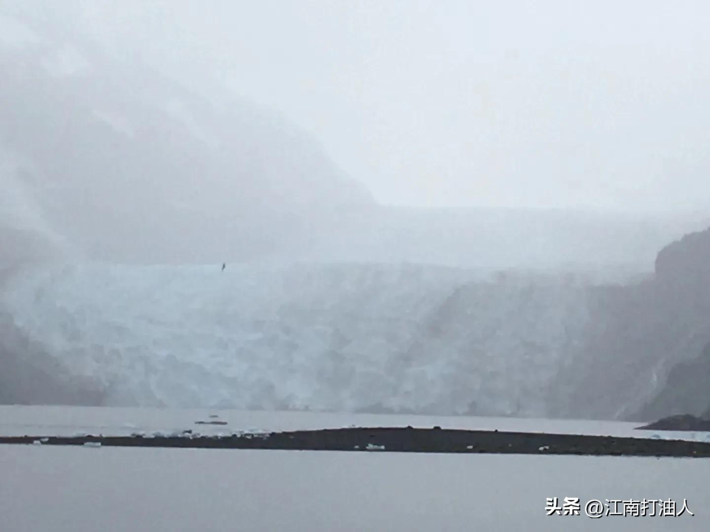
<path fill-rule="evenodd" d="M 217 106 L 77 35 L 0 24 L 3 180 L 88 257 L 245 260 L 288 247 L 306 215 L 372 204 L 276 113 Z"/>

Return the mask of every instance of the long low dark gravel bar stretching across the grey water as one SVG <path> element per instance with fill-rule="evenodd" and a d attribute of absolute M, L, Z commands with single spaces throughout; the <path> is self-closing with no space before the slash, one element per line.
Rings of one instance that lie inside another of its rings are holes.
<path fill-rule="evenodd" d="M 0 437 L 0 444 L 90 445 L 156 448 L 341 450 L 395 453 L 508 453 L 534 455 L 710 457 L 710 443 L 441 428 L 336 428 L 243 433 L 234 436 Z"/>

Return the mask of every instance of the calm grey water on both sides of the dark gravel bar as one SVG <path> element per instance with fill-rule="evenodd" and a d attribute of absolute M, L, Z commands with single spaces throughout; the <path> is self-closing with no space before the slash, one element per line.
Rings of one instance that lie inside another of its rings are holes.
<path fill-rule="evenodd" d="M 0 433 L 126 434 L 359 426 L 650 436 L 633 423 L 305 412 L 0 407 Z M 200 426 L 202 427 L 202 426 Z M 655 433 L 702 440 L 706 433 Z M 2 532 L 705 531 L 710 460 L 0 445 Z M 547 516 L 547 497 L 580 515 Z M 602 516 L 591 499 L 663 499 L 695 515 Z"/>

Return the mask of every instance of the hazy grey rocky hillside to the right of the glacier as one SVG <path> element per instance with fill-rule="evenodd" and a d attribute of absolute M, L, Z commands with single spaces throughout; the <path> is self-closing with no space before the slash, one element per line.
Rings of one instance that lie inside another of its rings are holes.
<path fill-rule="evenodd" d="M 706 362 L 692 361 L 710 343 L 710 230 L 664 248 L 652 278 L 591 289 L 590 300 L 551 387 L 551 414 L 648 421 L 709 406 Z"/>

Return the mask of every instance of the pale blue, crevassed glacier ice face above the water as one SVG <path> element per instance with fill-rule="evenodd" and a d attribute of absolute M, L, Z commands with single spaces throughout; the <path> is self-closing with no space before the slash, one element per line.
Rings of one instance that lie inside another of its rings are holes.
<path fill-rule="evenodd" d="M 586 294 L 406 263 L 94 262 L 15 272 L 0 310 L 27 363 L 110 406 L 544 416 Z"/>

